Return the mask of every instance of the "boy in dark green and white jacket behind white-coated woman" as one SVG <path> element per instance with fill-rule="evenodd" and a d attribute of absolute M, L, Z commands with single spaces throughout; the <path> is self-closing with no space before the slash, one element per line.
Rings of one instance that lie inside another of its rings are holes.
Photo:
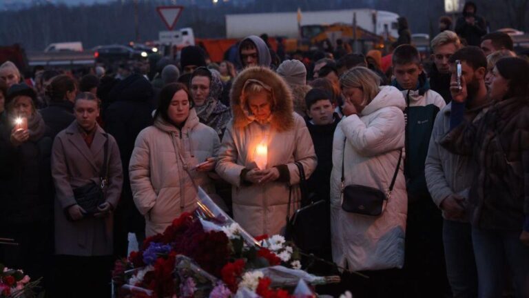
<path fill-rule="evenodd" d="M 408 297 L 429 293 L 444 297 L 446 268 L 442 246 L 442 217 L 433 203 L 424 177 L 433 123 L 446 103 L 439 93 L 430 90 L 419 52 L 414 46 L 395 48 L 392 57 L 392 85 L 402 90 L 406 99 L 406 139 L 404 175 L 408 190 L 406 223 L 406 264 L 410 283 Z"/>

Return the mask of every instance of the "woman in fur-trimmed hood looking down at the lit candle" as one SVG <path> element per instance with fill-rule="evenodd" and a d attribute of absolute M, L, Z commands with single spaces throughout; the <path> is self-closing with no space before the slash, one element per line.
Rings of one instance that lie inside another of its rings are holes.
<path fill-rule="evenodd" d="M 231 89 L 234 119 L 228 124 L 216 170 L 232 185 L 235 220 L 251 235 L 284 233 L 289 197 L 302 164 L 307 178 L 316 167 L 314 147 L 300 115 L 293 112 L 287 83 L 269 68 L 241 72 Z"/>

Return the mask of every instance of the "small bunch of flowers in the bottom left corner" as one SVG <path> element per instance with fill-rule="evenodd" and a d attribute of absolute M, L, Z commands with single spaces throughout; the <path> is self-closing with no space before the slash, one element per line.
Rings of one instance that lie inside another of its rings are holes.
<path fill-rule="evenodd" d="M 40 279 L 30 281 L 30 277 L 24 275 L 22 270 L 10 269 L 0 264 L 0 298 L 34 297 L 33 289 L 39 281 Z"/>

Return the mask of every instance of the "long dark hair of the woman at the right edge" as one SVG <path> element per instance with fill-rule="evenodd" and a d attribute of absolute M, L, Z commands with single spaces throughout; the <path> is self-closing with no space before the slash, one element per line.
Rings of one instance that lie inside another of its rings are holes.
<path fill-rule="evenodd" d="M 496 68 L 509 80 L 509 90 L 504 99 L 529 96 L 529 62 L 517 57 L 499 59 Z"/>

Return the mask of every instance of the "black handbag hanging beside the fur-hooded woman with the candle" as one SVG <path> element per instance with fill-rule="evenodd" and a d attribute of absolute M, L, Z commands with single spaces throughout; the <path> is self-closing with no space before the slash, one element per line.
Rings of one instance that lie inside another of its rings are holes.
<path fill-rule="evenodd" d="M 307 192 L 307 179 L 301 163 L 295 163 L 300 172 L 302 208 L 289 218 L 291 195 L 287 213 L 287 238 L 292 239 L 304 252 L 320 253 L 330 243 L 330 219 L 328 204 Z M 291 191 L 292 192 L 292 191 Z"/>

